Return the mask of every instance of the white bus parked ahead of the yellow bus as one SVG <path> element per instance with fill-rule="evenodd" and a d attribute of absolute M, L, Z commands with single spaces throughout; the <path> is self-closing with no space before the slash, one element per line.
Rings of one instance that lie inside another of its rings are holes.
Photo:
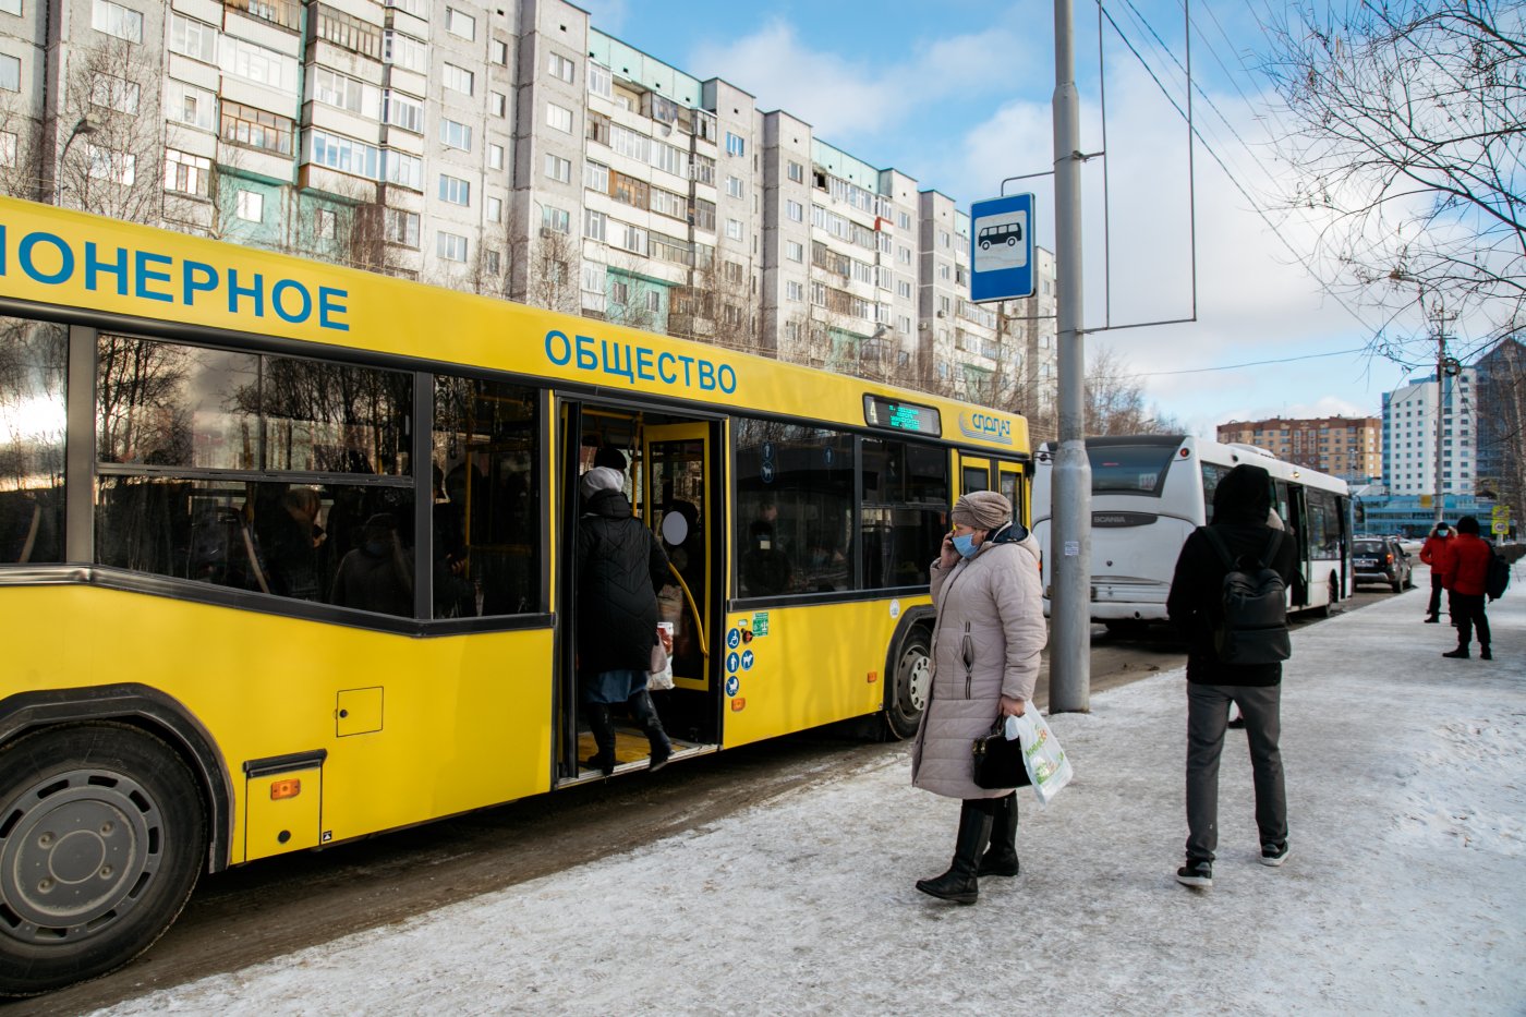
<path fill-rule="evenodd" d="M 1044 611 L 1050 609 L 1050 492 L 1056 446 L 1038 450 L 1033 533 L 1044 550 Z M 1346 481 L 1283 463 L 1251 444 L 1192 435 L 1087 438 L 1091 460 L 1091 620 L 1109 631 L 1166 622 L 1177 554 L 1193 528 L 1213 521 L 1213 490 L 1241 463 L 1271 473 L 1271 504 L 1299 548 L 1288 586 L 1293 611 L 1329 614 L 1351 594 Z"/>

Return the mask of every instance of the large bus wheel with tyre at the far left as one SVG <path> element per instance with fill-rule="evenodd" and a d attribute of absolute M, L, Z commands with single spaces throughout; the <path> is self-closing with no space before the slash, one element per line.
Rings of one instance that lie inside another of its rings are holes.
<path fill-rule="evenodd" d="M 206 846 L 200 789 L 153 734 L 58 727 L 0 750 L 0 994 L 146 950 L 189 899 Z"/>

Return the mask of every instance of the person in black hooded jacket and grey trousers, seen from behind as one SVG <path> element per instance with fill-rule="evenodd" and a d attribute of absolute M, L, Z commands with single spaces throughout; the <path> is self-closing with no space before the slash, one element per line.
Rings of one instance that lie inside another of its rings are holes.
<path fill-rule="evenodd" d="M 1271 475 L 1242 463 L 1213 492 L 1213 531 L 1236 562 L 1254 559 L 1291 583 L 1297 570 L 1296 534 L 1285 531 L 1274 560 L 1265 560 L 1273 539 Z M 1288 803 L 1282 786 L 1280 736 L 1282 664 L 1225 664 L 1213 646 L 1221 614 L 1222 583 L 1228 573 L 1199 527 L 1177 557 L 1166 611 L 1187 638 L 1187 863 L 1177 880 L 1213 886 L 1213 851 L 1219 840 L 1219 754 L 1230 702 L 1239 705 L 1250 742 L 1256 779 L 1256 826 L 1262 864 L 1280 866 L 1288 857 Z"/>

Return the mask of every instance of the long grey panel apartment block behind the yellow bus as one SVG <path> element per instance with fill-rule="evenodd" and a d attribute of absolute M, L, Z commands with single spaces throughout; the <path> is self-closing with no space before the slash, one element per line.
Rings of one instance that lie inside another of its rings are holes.
<path fill-rule="evenodd" d="M 1053 255 L 1042 296 L 972 304 L 952 197 L 563 0 L 0 0 L 0 170 L 119 218 L 1051 400 Z"/>

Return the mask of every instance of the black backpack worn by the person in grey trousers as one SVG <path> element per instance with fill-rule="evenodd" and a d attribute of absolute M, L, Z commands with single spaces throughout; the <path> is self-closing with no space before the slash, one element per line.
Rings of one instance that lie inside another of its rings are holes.
<path fill-rule="evenodd" d="M 1230 554 L 1224 538 L 1213 527 L 1202 527 L 1224 574 L 1219 611 L 1213 622 L 1213 649 L 1221 664 L 1277 664 L 1293 657 L 1288 638 L 1288 591 L 1271 562 L 1282 547 L 1282 530 L 1273 530 L 1260 560 Z"/>

